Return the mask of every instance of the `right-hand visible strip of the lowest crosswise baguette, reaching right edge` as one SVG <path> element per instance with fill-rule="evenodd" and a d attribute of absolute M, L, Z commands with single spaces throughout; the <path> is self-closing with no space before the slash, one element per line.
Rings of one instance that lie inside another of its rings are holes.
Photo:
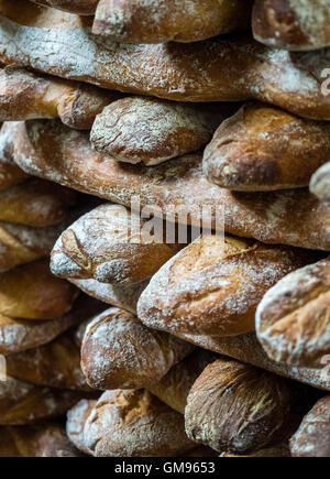
<path fill-rule="evenodd" d="M 256 366 L 257 368 L 275 372 L 278 375 L 294 379 L 295 381 L 309 384 L 314 388 L 330 391 L 330 378 L 321 369 L 297 368 L 285 363 L 278 363 L 268 358 L 254 333 L 241 336 L 219 338 L 217 336 L 179 335 L 180 338 L 191 341 L 194 345 L 209 349 L 219 355 L 228 356 Z"/>

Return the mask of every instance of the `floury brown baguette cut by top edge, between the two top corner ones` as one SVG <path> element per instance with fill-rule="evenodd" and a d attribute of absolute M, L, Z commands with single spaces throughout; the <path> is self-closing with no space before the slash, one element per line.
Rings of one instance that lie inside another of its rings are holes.
<path fill-rule="evenodd" d="M 251 0 L 100 0 L 92 32 L 111 42 L 197 42 L 250 25 Z"/>

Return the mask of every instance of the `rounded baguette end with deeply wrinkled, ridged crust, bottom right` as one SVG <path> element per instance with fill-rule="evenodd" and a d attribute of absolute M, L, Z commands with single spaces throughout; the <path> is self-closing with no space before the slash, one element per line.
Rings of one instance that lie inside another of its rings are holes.
<path fill-rule="evenodd" d="M 206 367 L 189 392 L 187 435 L 219 451 L 258 450 L 289 438 L 301 421 L 306 391 L 250 364 L 218 359 Z"/>

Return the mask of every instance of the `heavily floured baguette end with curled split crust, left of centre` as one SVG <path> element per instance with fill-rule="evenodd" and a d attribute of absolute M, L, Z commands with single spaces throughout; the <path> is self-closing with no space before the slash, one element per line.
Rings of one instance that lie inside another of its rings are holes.
<path fill-rule="evenodd" d="M 56 241 L 51 260 L 53 274 L 118 285 L 150 280 L 183 246 L 167 244 L 165 235 L 146 238 L 144 224 L 123 206 L 109 203 L 98 206 L 69 226 Z"/>

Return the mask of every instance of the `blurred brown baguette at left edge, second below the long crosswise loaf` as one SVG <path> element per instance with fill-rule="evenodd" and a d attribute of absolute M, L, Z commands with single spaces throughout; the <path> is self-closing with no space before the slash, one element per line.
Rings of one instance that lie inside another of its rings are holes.
<path fill-rule="evenodd" d="M 0 192 L 0 220 L 45 227 L 63 221 L 76 194 L 67 188 L 31 178 Z"/>

